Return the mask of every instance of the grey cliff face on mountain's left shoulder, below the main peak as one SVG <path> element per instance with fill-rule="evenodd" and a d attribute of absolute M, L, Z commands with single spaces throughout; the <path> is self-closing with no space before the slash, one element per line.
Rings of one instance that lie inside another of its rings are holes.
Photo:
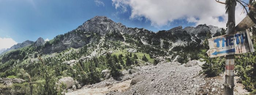
<path fill-rule="evenodd" d="M 58 35 L 53 40 L 53 43 L 46 44 L 40 51 L 44 54 L 61 52 L 67 48 L 80 48 L 84 45 L 90 43 L 90 41 L 95 41 L 97 39 L 97 34 L 91 32 L 85 32 L 80 30 L 73 30 L 64 35 Z"/>

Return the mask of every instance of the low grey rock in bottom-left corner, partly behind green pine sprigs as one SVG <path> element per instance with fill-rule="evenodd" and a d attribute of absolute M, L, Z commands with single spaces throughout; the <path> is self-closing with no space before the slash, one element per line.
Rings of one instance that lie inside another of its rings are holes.
<path fill-rule="evenodd" d="M 0 95 L 25 95 L 26 91 L 21 89 L 12 89 L 14 83 L 24 83 L 23 79 L 0 78 Z"/>

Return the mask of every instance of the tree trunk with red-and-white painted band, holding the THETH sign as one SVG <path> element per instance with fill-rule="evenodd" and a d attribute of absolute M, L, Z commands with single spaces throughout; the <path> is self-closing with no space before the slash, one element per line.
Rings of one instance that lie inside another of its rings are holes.
<path fill-rule="evenodd" d="M 235 32 L 235 10 L 236 0 L 230 0 L 232 3 L 228 8 L 228 20 L 227 20 L 227 34 Z M 227 55 L 225 57 L 226 68 L 225 68 L 225 83 L 224 83 L 224 95 L 234 95 L 234 64 L 235 56 Z"/>

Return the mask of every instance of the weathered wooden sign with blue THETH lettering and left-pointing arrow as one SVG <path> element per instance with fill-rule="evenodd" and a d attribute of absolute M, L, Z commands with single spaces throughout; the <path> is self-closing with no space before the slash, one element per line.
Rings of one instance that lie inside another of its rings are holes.
<path fill-rule="evenodd" d="M 214 37 L 208 39 L 208 42 L 210 50 L 207 51 L 207 54 L 211 58 L 254 52 L 248 29 L 230 35 Z"/>

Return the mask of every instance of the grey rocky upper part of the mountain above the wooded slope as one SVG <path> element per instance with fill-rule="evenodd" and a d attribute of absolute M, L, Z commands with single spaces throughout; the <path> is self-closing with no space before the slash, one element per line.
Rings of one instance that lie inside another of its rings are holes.
<path fill-rule="evenodd" d="M 108 41 L 121 41 L 133 49 L 140 52 L 150 53 L 156 56 L 169 55 L 168 52 L 190 51 L 191 49 L 199 49 L 203 40 L 206 38 L 207 33 L 211 35 L 220 35 L 222 29 L 214 27 L 212 25 L 207 26 L 201 24 L 196 27 L 181 26 L 172 28 L 170 30 L 162 30 L 158 32 L 149 31 L 144 28 L 129 28 L 121 23 L 116 23 L 105 16 L 95 16 L 90 20 L 87 20 L 78 28 L 65 33 L 64 35 L 57 35 L 50 41 L 44 41 L 41 37 L 37 41 L 25 41 L 18 43 L 6 51 L 19 49 L 22 47 L 30 46 L 34 48 L 34 53 L 38 54 L 52 54 L 59 53 L 68 48 L 81 48 L 88 44 L 98 44 L 98 47 L 94 47 L 96 50 L 90 52 L 90 56 L 102 55 L 104 52 L 97 51 L 102 50 L 99 44 L 107 44 Z M 113 44 L 113 43 L 112 43 Z M 109 44 L 109 45 L 112 45 Z M 30 48 L 29 47 L 29 48 Z M 125 46 L 127 47 L 127 46 Z M 195 48 L 188 48 L 195 47 Z M 121 47 L 119 47 L 120 49 Z M 113 50 L 114 48 L 109 48 Z M 107 49 L 107 50 L 109 50 Z M 32 55 L 33 51 L 30 51 Z M 25 52 L 25 51 L 24 51 Z M 161 53 L 160 53 L 161 52 Z M 164 53 L 165 52 L 165 53 Z M 18 54 L 16 54 L 18 55 Z M 25 58 L 23 57 L 19 59 Z M 3 58 L 6 62 L 10 59 L 9 55 L 4 55 Z M 3 59 L 2 59 L 3 60 Z"/>

